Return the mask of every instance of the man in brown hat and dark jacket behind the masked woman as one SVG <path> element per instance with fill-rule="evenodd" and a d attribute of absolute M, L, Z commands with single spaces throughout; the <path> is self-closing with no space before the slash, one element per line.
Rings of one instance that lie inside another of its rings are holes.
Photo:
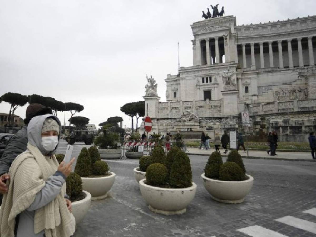
<path fill-rule="evenodd" d="M 27 124 L 30 120 L 38 115 L 50 114 L 52 109 L 40 104 L 31 104 L 27 107 L 25 113 L 25 126 L 19 130 L 15 135 L 11 137 L 6 148 L 3 151 L 3 155 L 0 159 L 0 193 L 4 194 L 8 191 L 8 187 L 5 182 L 9 177 L 9 169 L 14 159 L 24 152 L 27 148 Z M 2 202 L 2 195 L 0 195 L 0 203 Z"/>

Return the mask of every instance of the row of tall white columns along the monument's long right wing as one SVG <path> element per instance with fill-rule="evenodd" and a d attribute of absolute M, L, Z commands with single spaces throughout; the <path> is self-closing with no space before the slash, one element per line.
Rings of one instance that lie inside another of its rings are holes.
<path fill-rule="evenodd" d="M 292 53 L 292 40 L 294 39 L 287 39 L 287 45 L 288 45 L 288 57 L 289 57 L 289 68 L 293 68 L 293 53 Z M 297 38 L 297 45 L 298 45 L 298 58 L 299 58 L 299 67 L 304 67 L 303 62 L 303 50 L 302 50 L 302 38 Z M 282 41 L 278 40 L 278 59 L 279 59 L 279 68 L 284 68 L 283 66 L 283 54 L 282 54 Z M 312 43 L 312 37 L 307 37 L 308 41 L 308 53 L 309 53 L 309 65 L 314 65 L 314 55 L 313 55 L 313 43 Z M 273 65 L 273 51 L 272 51 L 272 43 L 274 41 L 268 41 L 269 45 L 269 62 L 270 67 L 274 67 Z M 263 44 L 265 42 L 259 42 L 259 53 L 260 53 L 260 67 L 264 68 L 264 52 L 263 52 Z M 250 50 L 251 50 L 251 67 L 255 67 L 255 51 L 254 51 L 254 44 L 255 43 L 249 43 L 250 44 Z M 246 43 L 241 44 L 242 46 L 242 63 L 243 68 L 247 67 L 247 61 L 246 61 Z"/>

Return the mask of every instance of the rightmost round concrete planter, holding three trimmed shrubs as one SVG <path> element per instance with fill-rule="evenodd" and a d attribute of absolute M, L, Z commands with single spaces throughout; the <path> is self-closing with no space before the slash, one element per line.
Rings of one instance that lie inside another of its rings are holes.
<path fill-rule="evenodd" d="M 243 181 L 222 181 L 217 179 L 209 179 L 204 173 L 201 175 L 203 184 L 211 197 L 221 203 L 237 204 L 242 203 L 250 192 L 253 184 L 253 177 Z"/>

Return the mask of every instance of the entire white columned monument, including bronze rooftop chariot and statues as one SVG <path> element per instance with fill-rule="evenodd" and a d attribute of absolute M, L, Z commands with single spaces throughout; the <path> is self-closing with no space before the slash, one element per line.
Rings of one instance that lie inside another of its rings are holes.
<path fill-rule="evenodd" d="M 316 130 L 316 16 L 237 25 L 213 7 L 191 25 L 193 65 L 165 78 L 160 102 L 147 77 L 145 116 L 153 132 L 277 131 L 280 141 L 306 141 Z M 141 126 L 141 131 L 143 125 Z"/>

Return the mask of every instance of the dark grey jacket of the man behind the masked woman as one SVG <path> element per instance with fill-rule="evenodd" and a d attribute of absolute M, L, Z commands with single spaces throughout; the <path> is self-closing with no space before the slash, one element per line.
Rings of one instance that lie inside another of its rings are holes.
<path fill-rule="evenodd" d="M 11 137 L 4 149 L 0 159 L 0 175 L 9 173 L 9 169 L 14 159 L 26 150 L 27 141 L 27 126 L 24 126 Z"/>

